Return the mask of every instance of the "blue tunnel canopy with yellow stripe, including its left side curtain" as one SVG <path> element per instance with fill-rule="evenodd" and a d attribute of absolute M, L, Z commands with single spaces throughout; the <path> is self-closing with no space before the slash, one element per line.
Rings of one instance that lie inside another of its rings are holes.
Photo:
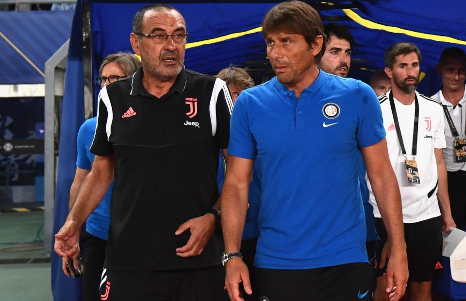
<path fill-rule="evenodd" d="M 134 13 L 145 3 L 130 1 L 86 1 L 91 4 L 92 62 L 94 77 L 101 59 L 116 51 L 131 51 L 129 35 Z M 173 2 L 173 1 L 171 1 Z M 187 1 L 178 1 L 187 2 Z M 234 2 L 234 1 L 230 1 Z M 308 1 L 313 3 L 314 1 Z M 344 17 L 356 45 L 350 76 L 367 81 L 373 70 L 384 67 L 385 49 L 396 42 L 415 43 L 421 50 L 423 80 L 419 91 L 432 95 L 440 87 L 434 69 L 444 48 L 466 49 L 465 6 L 462 0 L 361 0 L 333 1 L 354 4 L 357 9 L 337 6 L 321 11 L 324 17 Z M 174 3 L 181 11 L 189 32 L 186 68 L 216 74 L 230 63 L 254 68 L 268 68 L 265 43 L 260 33 L 262 18 L 271 3 Z M 76 136 L 83 123 L 83 66 L 81 0 L 73 19 L 70 40 L 63 118 L 60 137 L 60 160 L 55 198 L 54 232 L 63 225 L 68 212 L 69 188 L 75 173 Z M 327 21 L 324 21 L 327 22 Z M 262 66 L 262 67 L 261 67 Z M 266 71 L 264 71 L 267 73 Z M 259 84 L 256 83 L 256 84 Z M 95 86 L 97 91 L 98 87 Z M 52 290 L 55 301 L 79 301 L 80 282 L 67 279 L 61 260 L 52 254 Z"/>

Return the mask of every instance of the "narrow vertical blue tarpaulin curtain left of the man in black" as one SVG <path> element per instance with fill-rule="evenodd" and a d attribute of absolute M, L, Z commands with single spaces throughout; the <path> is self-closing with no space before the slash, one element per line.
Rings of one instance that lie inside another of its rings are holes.
<path fill-rule="evenodd" d="M 58 164 L 57 189 L 53 232 L 57 233 L 68 214 L 69 189 L 76 171 L 76 137 L 84 122 L 83 89 L 83 32 L 81 5 L 76 6 L 69 41 L 65 93 L 62 107 L 62 131 L 60 133 L 60 162 Z M 54 240 L 52 239 L 52 250 Z M 62 259 L 51 252 L 51 285 L 55 301 L 81 301 L 82 278 L 67 278 L 62 271 Z"/>

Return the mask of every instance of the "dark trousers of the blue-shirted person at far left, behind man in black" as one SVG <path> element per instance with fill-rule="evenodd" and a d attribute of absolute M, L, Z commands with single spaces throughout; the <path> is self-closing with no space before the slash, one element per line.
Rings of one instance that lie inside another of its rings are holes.
<path fill-rule="evenodd" d="M 83 231 L 81 242 L 84 245 L 83 300 L 100 301 L 100 277 L 107 241 Z"/>

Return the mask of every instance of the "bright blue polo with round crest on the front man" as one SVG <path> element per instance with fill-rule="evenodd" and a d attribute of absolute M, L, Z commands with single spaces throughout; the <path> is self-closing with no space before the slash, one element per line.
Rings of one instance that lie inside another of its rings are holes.
<path fill-rule="evenodd" d="M 228 153 L 262 163 L 255 266 L 367 262 L 358 146 L 385 137 L 368 85 L 320 71 L 298 99 L 274 77 L 241 93 L 230 129 Z"/>

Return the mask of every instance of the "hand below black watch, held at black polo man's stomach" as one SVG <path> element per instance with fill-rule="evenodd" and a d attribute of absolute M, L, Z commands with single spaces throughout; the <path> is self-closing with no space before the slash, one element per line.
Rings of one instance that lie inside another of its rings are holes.
<path fill-rule="evenodd" d="M 180 257 L 198 256 L 204 250 L 205 245 L 214 233 L 216 217 L 213 214 L 205 214 L 200 217 L 191 218 L 183 223 L 175 235 L 180 235 L 185 230 L 191 231 L 188 242 L 181 248 L 176 248 L 176 255 Z"/>

